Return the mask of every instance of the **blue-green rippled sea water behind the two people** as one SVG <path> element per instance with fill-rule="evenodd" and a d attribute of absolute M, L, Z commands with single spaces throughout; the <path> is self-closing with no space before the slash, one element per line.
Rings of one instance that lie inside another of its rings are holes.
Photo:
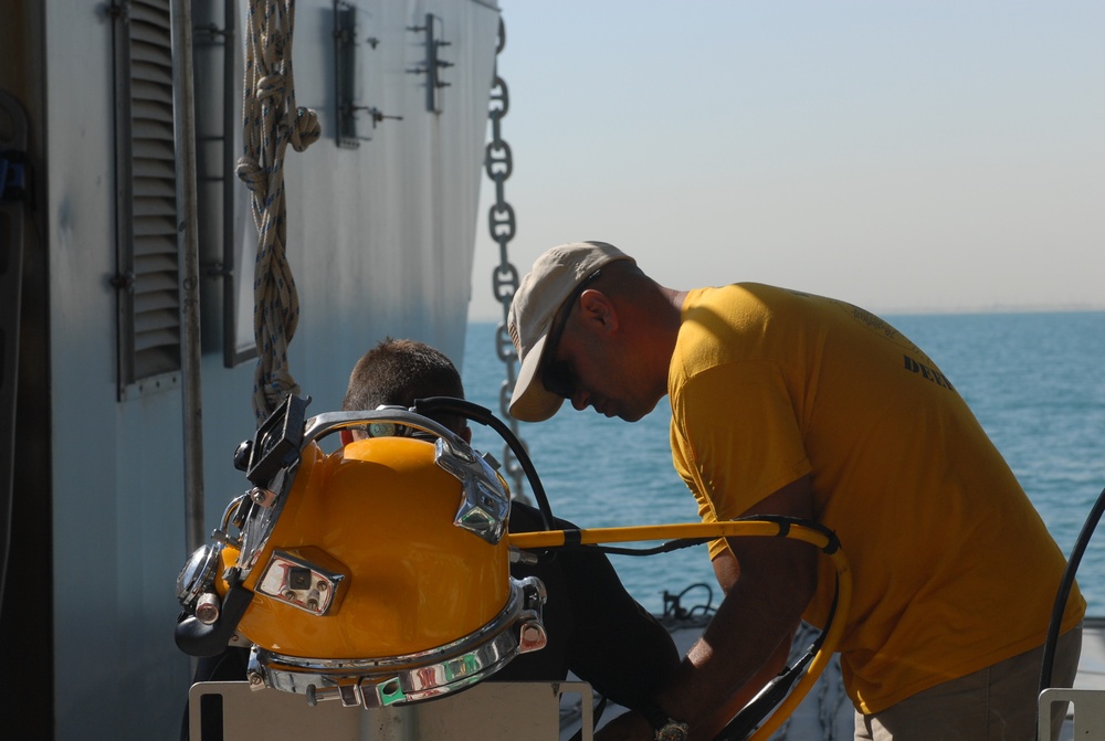
<path fill-rule="evenodd" d="M 1070 555 L 1105 488 L 1105 313 L 884 318 L 959 390 Z M 469 399 L 505 419 L 495 338 L 494 324 L 469 326 L 463 374 Z M 672 467 L 670 421 L 666 399 L 633 424 L 566 404 L 548 422 L 522 423 L 519 435 L 557 517 L 581 528 L 694 522 L 694 498 Z M 475 426 L 475 447 L 502 459 L 501 437 Z M 533 501 L 529 487 L 526 495 Z M 684 608 L 720 600 L 704 546 L 611 560 L 652 612 L 663 611 L 665 592 L 682 594 Z M 1077 575 L 1090 614 L 1105 614 L 1105 523 Z"/>

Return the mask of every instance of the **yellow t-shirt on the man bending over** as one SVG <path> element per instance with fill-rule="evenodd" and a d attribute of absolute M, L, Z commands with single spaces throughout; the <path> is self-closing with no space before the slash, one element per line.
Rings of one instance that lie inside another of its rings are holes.
<path fill-rule="evenodd" d="M 838 650 L 863 712 L 1043 644 L 1065 559 L 948 379 L 885 321 L 764 285 L 694 290 L 667 388 L 704 521 L 812 475 L 851 565 Z M 814 625 L 833 593 L 821 562 Z M 1084 614 L 1075 585 L 1063 629 Z"/>

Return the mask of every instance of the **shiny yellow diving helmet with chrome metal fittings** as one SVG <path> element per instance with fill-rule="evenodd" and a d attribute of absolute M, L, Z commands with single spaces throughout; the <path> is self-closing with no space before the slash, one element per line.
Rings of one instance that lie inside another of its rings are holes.
<path fill-rule="evenodd" d="M 487 462 L 406 410 L 304 424 L 305 406 L 290 398 L 259 431 L 254 487 L 181 571 L 178 646 L 210 655 L 236 632 L 255 687 L 369 708 L 462 689 L 544 647 L 545 589 L 509 574 L 509 496 Z M 365 424 L 402 435 L 329 455 L 317 443 Z"/>

